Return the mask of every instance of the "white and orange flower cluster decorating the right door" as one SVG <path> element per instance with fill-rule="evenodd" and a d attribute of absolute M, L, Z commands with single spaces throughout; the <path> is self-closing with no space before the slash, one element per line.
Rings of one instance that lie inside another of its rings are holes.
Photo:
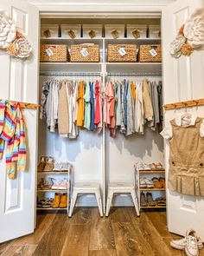
<path fill-rule="evenodd" d="M 194 49 L 204 45 L 204 8 L 197 9 L 179 29 L 170 43 L 170 55 L 179 58 L 190 56 Z"/>

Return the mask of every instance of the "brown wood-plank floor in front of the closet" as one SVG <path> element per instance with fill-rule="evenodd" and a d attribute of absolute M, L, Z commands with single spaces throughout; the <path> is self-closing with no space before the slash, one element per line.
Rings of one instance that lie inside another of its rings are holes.
<path fill-rule="evenodd" d="M 112 208 L 100 218 L 95 207 L 66 213 L 37 215 L 35 233 L 0 245 L 5 256 L 182 256 L 169 246 L 179 239 L 168 232 L 166 213 L 145 212 L 138 218 L 133 207 Z M 204 256 L 204 250 L 200 252 Z"/>

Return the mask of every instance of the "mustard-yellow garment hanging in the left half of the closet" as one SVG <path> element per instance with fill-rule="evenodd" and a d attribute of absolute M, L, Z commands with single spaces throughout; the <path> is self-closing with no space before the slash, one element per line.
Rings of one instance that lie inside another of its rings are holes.
<path fill-rule="evenodd" d="M 85 84 L 84 82 L 80 82 L 80 86 L 78 89 L 78 113 L 77 113 L 77 126 L 84 126 L 84 93 L 85 93 Z"/>

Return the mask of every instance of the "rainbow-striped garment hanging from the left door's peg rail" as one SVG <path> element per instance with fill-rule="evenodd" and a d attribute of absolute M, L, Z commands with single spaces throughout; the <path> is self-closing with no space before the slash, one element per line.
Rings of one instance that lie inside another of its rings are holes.
<path fill-rule="evenodd" d="M 6 145 L 6 171 L 14 179 L 26 166 L 25 124 L 20 103 L 0 102 L 0 159 Z"/>

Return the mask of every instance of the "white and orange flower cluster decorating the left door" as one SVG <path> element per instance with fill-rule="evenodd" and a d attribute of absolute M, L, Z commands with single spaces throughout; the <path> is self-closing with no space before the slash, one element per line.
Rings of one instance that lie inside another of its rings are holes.
<path fill-rule="evenodd" d="M 27 38 L 16 29 L 16 24 L 3 11 L 0 11 L 0 49 L 21 59 L 29 57 L 32 53 Z"/>

